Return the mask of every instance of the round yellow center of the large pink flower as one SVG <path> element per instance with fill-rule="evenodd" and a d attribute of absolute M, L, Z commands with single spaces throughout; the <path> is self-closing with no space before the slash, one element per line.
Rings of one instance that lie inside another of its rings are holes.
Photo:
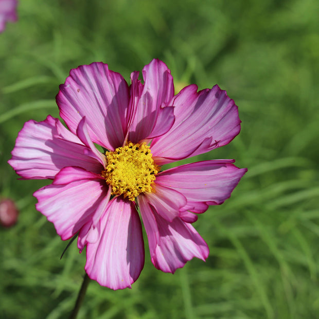
<path fill-rule="evenodd" d="M 138 194 L 154 191 L 152 184 L 160 171 L 152 158 L 146 143 L 118 147 L 114 152 L 105 153 L 107 167 L 102 171 L 105 181 L 112 187 L 112 195 L 123 194 L 134 201 Z"/>

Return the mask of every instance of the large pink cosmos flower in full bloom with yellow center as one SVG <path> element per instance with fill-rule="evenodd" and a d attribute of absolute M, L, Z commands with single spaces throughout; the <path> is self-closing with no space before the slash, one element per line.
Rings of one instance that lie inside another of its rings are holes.
<path fill-rule="evenodd" d="M 238 108 L 218 85 L 174 96 L 166 64 L 153 60 L 131 85 L 104 63 L 70 71 L 50 115 L 25 123 L 9 164 L 23 179 L 51 179 L 34 193 L 37 209 L 63 240 L 78 234 L 85 271 L 100 285 L 131 287 L 144 266 L 140 212 L 157 269 L 174 273 L 208 246 L 191 225 L 223 203 L 246 172 L 234 160 L 161 171 L 167 163 L 228 144 L 240 131 Z M 100 152 L 95 144 L 104 148 Z"/>

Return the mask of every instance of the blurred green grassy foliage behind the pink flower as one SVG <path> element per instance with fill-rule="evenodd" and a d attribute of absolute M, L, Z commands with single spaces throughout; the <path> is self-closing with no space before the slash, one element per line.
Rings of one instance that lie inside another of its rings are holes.
<path fill-rule="evenodd" d="M 194 224 L 206 262 L 174 275 L 146 264 L 132 289 L 91 282 L 79 318 L 319 318 L 319 2 L 21 0 L 0 34 L 0 194 L 19 222 L 0 229 L 0 317 L 65 318 L 85 254 L 34 208 L 45 181 L 7 164 L 29 119 L 58 117 L 70 68 L 108 63 L 127 80 L 153 58 L 176 87 L 218 83 L 239 107 L 231 144 L 192 161 L 235 158 L 249 171 Z"/>

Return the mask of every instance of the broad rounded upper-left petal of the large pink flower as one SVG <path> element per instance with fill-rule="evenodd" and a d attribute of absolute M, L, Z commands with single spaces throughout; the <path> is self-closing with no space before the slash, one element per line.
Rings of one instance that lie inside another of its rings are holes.
<path fill-rule="evenodd" d="M 122 146 L 127 127 L 129 87 L 107 64 L 94 62 L 70 70 L 56 97 L 60 116 L 76 133 L 85 116 L 91 140 L 109 150 Z"/>

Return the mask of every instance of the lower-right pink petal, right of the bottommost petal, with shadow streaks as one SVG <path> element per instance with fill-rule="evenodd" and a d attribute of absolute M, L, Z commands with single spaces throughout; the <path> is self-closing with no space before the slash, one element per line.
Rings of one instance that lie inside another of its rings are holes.
<path fill-rule="evenodd" d="M 155 268 L 174 273 L 193 257 L 203 260 L 208 257 L 207 244 L 191 224 L 179 217 L 168 222 L 144 197 L 139 197 L 138 203 Z"/>

